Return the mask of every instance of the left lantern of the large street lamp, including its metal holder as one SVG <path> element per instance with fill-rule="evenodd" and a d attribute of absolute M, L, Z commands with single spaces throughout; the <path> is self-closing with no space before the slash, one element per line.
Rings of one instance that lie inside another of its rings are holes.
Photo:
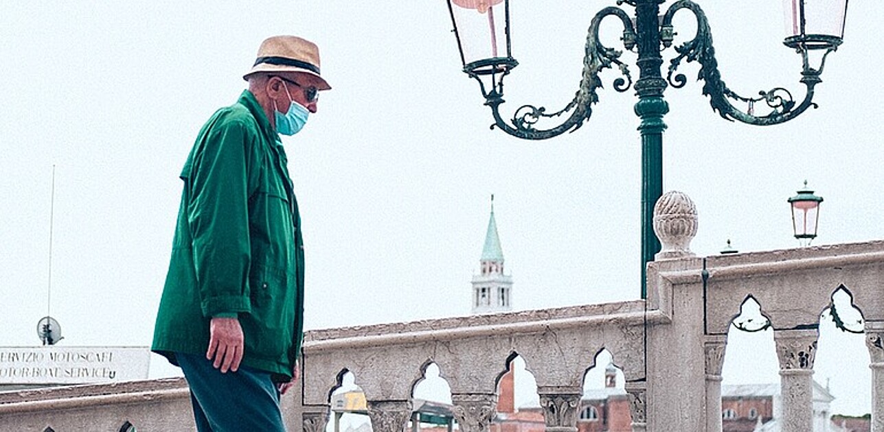
<path fill-rule="evenodd" d="M 486 99 L 499 98 L 503 78 L 519 64 L 510 51 L 509 0 L 447 1 L 463 71 L 479 81 Z"/>

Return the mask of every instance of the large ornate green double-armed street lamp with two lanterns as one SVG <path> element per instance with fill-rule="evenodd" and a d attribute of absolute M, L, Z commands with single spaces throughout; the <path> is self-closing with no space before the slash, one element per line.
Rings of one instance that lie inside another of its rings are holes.
<path fill-rule="evenodd" d="M 796 102 L 792 94 L 782 87 L 761 91 L 755 97 L 743 97 L 730 90 L 721 80 L 715 59 L 712 32 L 705 13 L 690 0 L 678 0 L 670 4 L 660 16 L 660 4 L 667 0 L 618 0 L 618 6 L 608 6 L 592 19 L 583 59 L 583 78 L 574 100 L 565 108 L 548 112 L 545 107 L 522 105 L 513 117 L 504 120 L 500 114 L 503 100 L 504 78 L 518 65 L 512 55 L 510 43 L 509 0 L 446 0 L 454 26 L 454 34 L 461 52 L 463 71 L 476 78 L 485 98 L 485 105 L 492 109 L 494 126 L 510 135 L 525 139 L 546 139 L 580 128 L 592 114 L 592 105 L 598 102 L 596 91 L 600 88 L 599 72 L 605 69 L 620 71 L 621 77 L 613 81 L 613 88 L 626 92 L 633 87 L 638 101 L 636 115 L 641 119 L 638 130 L 642 138 L 642 298 L 645 298 L 646 264 L 653 260 L 660 249 L 653 233 L 653 207 L 663 194 L 663 116 L 669 111 L 663 92 L 667 86 L 681 88 L 687 78 L 676 73 L 682 61 L 700 64 L 699 79 L 705 84 L 703 93 L 710 98 L 714 111 L 730 121 L 756 125 L 788 122 L 807 108 L 816 108 L 812 102 L 813 88 L 821 82 L 826 58 L 842 42 L 847 0 L 783 0 L 787 17 L 788 36 L 783 43 L 796 50 L 802 58 L 803 70 L 800 82 L 806 87 L 804 100 Z M 634 18 L 624 11 L 622 5 L 635 8 Z M 673 47 L 675 13 L 687 10 L 697 19 L 694 38 Z M 621 41 L 623 48 L 637 53 L 638 78 L 635 82 L 629 65 L 621 60 L 622 51 L 607 48 L 599 41 L 598 30 L 603 19 L 614 17 L 623 25 Z M 674 48 L 675 56 L 669 61 L 666 78 L 663 76 L 662 52 Z M 819 67 L 811 67 L 811 53 L 819 56 Z M 744 108 L 738 108 L 736 105 Z M 766 105 L 764 114 L 756 114 L 756 104 Z M 562 115 L 568 117 L 548 129 L 538 129 L 537 123 Z"/>

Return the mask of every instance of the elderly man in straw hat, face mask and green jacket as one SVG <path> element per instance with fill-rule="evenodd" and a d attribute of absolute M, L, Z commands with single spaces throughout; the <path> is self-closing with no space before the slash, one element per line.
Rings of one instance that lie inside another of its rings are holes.
<path fill-rule="evenodd" d="M 298 378 L 301 217 L 279 134 L 316 113 L 316 45 L 263 41 L 248 90 L 202 126 L 181 179 L 178 226 L 152 350 L 190 385 L 197 429 L 285 431 L 279 394 Z"/>

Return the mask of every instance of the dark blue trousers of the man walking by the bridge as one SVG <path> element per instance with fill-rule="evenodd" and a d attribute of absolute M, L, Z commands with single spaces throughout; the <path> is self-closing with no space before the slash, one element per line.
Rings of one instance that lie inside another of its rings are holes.
<path fill-rule="evenodd" d="M 204 355 L 175 353 L 190 385 L 199 432 L 286 432 L 270 373 L 244 368 L 222 374 Z"/>

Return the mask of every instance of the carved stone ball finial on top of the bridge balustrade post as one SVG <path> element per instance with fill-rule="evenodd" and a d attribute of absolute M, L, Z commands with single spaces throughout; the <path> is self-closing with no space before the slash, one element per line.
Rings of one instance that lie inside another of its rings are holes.
<path fill-rule="evenodd" d="M 686 194 L 670 190 L 654 205 L 654 234 L 661 250 L 656 260 L 693 257 L 690 241 L 697 235 L 697 206 Z"/>

